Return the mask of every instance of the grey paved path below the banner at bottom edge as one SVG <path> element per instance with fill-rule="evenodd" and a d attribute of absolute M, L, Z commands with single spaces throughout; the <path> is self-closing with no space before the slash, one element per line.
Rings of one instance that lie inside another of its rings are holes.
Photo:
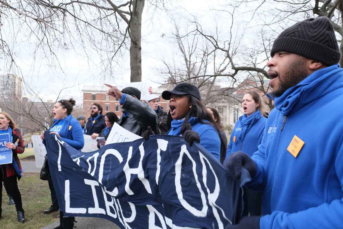
<path fill-rule="evenodd" d="M 75 217 L 75 220 L 78 221 L 75 223 L 76 229 L 120 229 L 114 222 L 111 222 L 107 219 L 94 218 L 94 217 Z M 60 224 L 60 221 L 56 221 L 43 229 L 52 229 L 57 227 Z"/>

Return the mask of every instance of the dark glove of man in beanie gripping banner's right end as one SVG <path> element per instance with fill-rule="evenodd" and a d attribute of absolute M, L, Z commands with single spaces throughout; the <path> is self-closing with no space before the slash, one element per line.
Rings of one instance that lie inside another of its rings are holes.
<path fill-rule="evenodd" d="M 223 165 L 224 168 L 229 170 L 237 179 L 240 178 L 242 167 L 248 170 L 251 178 L 256 175 L 257 171 L 255 162 L 249 157 L 248 154 L 242 151 L 231 153 L 224 161 Z"/>

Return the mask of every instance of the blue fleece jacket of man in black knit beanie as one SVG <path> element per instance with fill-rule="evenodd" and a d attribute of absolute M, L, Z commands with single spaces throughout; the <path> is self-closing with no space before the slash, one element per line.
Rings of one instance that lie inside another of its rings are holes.
<path fill-rule="evenodd" d="M 342 228 L 342 101 L 339 65 L 315 71 L 275 98 L 252 156 L 257 173 L 247 185 L 264 191 L 260 228 Z"/>

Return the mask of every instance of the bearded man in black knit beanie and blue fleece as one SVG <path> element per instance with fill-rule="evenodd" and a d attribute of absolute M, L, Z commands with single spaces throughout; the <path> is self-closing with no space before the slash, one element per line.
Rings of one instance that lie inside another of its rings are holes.
<path fill-rule="evenodd" d="M 274 41 L 267 62 L 275 94 L 261 144 L 224 167 L 263 191 L 263 216 L 227 228 L 342 228 L 343 69 L 330 19 L 299 22 Z"/>

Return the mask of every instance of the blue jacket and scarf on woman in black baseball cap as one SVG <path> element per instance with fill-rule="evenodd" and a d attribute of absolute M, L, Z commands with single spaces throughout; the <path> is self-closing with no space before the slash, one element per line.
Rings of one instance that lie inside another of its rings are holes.
<path fill-rule="evenodd" d="M 203 122 L 207 122 L 203 120 Z M 184 119 L 171 121 L 171 128 L 167 135 L 181 136 L 181 126 L 184 123 Z M 212 155 L 220 161 L 220 137 L 214 127 L 209 124 L 202 124 L 198 122 L 196 117 L 190 117 L 188 123 L 191 124 L 192 130 L 196 131 L 200 135 L 200 145 L 207 149 Z"/>

